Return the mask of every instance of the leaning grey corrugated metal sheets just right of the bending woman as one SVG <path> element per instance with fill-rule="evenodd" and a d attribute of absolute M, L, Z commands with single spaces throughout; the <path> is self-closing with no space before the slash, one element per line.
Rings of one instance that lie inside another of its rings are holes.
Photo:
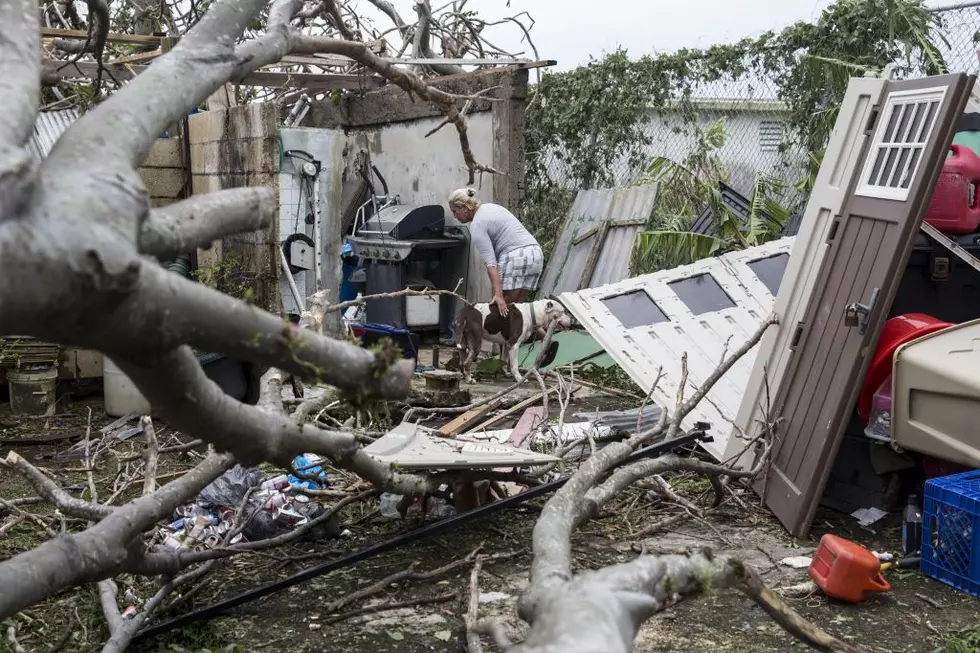
<path fill-rule="evenodd" d="M 629 277 L 633 241 L 653 213 L 658 189 L 657 184 L 649 184 L 579 191 L 572 208 L 568 210 L 538 293 L 547 296 L 579 289 L 589 256 L 602 233 L 599 227 L 603 223 L 632 221 L 644 224 L 610 226 L 605 232 L 592 276 L 584 287 L 615 283 Z M 590 231 L 593 234 L 583 238 Z"/>

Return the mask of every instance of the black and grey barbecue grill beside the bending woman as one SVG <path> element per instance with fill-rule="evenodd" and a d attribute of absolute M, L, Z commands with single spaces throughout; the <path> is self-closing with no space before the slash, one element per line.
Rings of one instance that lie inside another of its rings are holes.
<path fill-rule="evenodd" d="M 469 239 L 464 227 L 446 226 L 440 204 L 399 204 L 397 198 L 363 207 L 348 236 L 361 259 L 365 293 L 374 295 L 412 288 L 453 290 L 466 276 Z M 367 322 L 413 331 L 448 334 L 453 298 L 446 295 L 375 300 L 366 307 Z"/>

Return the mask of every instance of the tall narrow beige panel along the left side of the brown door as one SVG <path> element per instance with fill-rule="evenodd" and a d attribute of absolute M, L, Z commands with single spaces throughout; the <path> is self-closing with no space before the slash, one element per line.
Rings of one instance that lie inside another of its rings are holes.
<path fill-rule="evenodd" d="M 865 126 L 884 89 L 884 79 L 860 78 L 852 79 L 844 94 L 834 131 L 817 172 L 814 191 L 807 202 L 793 252 L 776 295 L 773 312 L 779 317 L 779 324 L 770 328 L 759 342 L 752 373 L 745 386 L 745 397 L 735 419 L 736 426 L 749 438 L 758 436 L 762 431 L 768 409 L 766 399 L 776 395 L 786 376 L 792 355 L 791 340 L 797 325 L 803 320 L 820 266 L 829 251 L 827 237 L 834 218 L 843 209 L 851 178 L 861 160 L 861 152 L 868 139 L 864 133 Z M 729 442 L 726 458 L 741 451 L 738 444 L 737 441 Z M 749 468 L 753 462 L 747 453 L 738 461 L 738 465 Z"/>

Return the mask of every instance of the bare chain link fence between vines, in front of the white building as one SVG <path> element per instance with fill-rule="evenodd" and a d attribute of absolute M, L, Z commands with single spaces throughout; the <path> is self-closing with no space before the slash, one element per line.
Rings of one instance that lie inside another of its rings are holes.
<path fill-rule="evenodd" d="M 951 72 L 975 72 L 980 39 L 980 2 L 934 10 L 939 46 Z M 550 180 L 548 197 L 531 198 L 525 207 L 533 223 L 542 219 L 549 226 L 560 220 L 577 191 L 588 188 L 630 186 L 643 178 L 650 162 L 663 157 L 686 165 L 692 155 L 706 153 L 712 171 L 735 190 L 751 197 L 759 175 L 784 184 L 785 206 L 797 208 L 805 201 L 795 184 L 806 174 L 808 155 L 787 135 L 788 107 L 779 101 L 771 79 L 745 77 L 735 81 L 694 86 L 689 95 L 645 118 L 647 144 L 639 155 L 623 156 L 605 174 L 583 182 L 574 174 L 563 152 L 543 153 Z M 708 138 L 706 138 L 708 135 Z M 706 140 L 710 141 L 707 143 Z M 587 156 L 587 154 L 586 154 Z M 580 166 L 579 166 L 580 169 Z M 530 190 L 530 184 L 529 184 Z M 549 215 L 533 215 L 541 201 L 550 202 Z M 554 213 L 554 215 L 551 215 Z"/>

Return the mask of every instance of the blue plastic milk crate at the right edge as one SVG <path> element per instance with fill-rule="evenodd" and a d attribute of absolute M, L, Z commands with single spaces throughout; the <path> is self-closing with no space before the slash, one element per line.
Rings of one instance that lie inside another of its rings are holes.
<path fill-rule="evenodd" d="M 980 471 L 926 482 L 922 573 L 980 597 Z"/>

